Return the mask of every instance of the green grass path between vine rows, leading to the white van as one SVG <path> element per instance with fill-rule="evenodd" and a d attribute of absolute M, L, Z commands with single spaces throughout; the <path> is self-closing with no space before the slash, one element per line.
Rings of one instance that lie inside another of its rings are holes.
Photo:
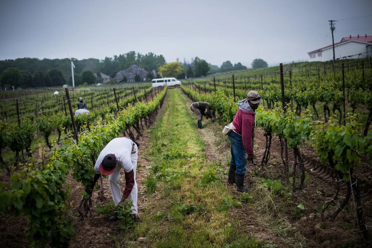
<path fill-rule="evenodd" d="M 151 168 L 143 181 L 147 203 L 132 233 L 137 241 L 126 245 L 230 247 L 238 242 L 263 247 L 233 217 L 245 203 L 234 199 L 215 172 L 222 165 L 208 159 L 186 99 L 179 89 L 170 89 L 167 97 L 165 112 L 150 131 Z"/>

